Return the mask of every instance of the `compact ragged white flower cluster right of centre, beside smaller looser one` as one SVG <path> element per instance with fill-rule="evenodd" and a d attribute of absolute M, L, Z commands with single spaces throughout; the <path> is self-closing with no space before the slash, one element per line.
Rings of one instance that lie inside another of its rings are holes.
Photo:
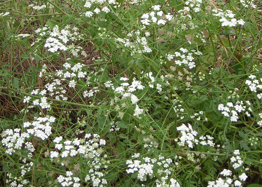
<path fill-rule="evenodd" d="M 182 124 L 177 127 L 177 130 L 182 134 L 180 138 L 175 139 L 179 146 L 185 146 L 185 144 L 187 144 L 189 148 L 193 149 L 193 143 L 198 144 L 198 139 L 195 139 L 195 136 L 197 136 L 198 133 L 192 129 L 190 124 L 188 124 L 188 127 L 185 124 Z"/>

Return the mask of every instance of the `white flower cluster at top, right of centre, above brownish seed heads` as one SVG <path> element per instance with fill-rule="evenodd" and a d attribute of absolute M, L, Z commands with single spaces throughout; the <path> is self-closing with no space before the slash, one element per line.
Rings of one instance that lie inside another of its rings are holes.
<path fill-rule="evenodd" d="M 157 23 L 157 25 L 165 25 L 167 21 L 171 21 L 173 19 L 173 15 L 170 13 L 164 14 L 163 11 L 160 10 L 160 5 L 154 5 L 151 7 L 152 10 L 158 12 L 150 12 L 143 14 L 141 16 L 141 23 L 143 25 L 150 25 L 150 23 Z"/>

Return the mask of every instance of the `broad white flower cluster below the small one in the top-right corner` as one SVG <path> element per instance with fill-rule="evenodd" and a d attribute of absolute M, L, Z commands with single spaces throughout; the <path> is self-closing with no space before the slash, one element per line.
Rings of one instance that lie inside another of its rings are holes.
<path fill-rule="evenodd" d="M 237 20 L 234 18 L 235 14 L 231 10 L 221 10 L 221 9 L 213 9 L 215 14 L 214 16 L 220 17 L 219 21 L 222 23 L 221 26 L 229 26 L 234 27 L 237 24 L 244 25 L 245 21 L 243 19 Z"/>

